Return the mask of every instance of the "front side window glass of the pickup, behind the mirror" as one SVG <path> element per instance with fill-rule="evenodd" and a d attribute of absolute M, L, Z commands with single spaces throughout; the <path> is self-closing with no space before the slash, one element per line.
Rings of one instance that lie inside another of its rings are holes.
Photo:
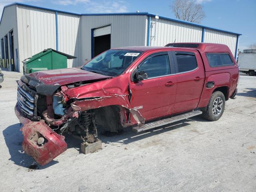
<path fill-rule="evenodd" d="M 167 52 L 153 54 L 146 58 L 138 67 L 138 74 L 146 73 L 148 78 L 170 74 L 170 62 Z"/>

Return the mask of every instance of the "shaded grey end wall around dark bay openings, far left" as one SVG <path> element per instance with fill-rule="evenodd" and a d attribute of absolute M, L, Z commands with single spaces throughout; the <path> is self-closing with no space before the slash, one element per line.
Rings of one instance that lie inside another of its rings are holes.
<path fill-rule="evenodd" d="M 13 62 L 15 64 L 15 69 L 19 70 L 19 65 L 17 65 L 16 63 L 16 48 L 18 48 L 18 30 L 17 30 L 17 22 L 16 22 L 16 5 L 13 6 L 9 6 L 6 7 L 4 10 L 4 13 L 2 15 L 2 21 L 1 21 L 1 25 L 0 25 L 0 39 L 4 38 L 4 36 L 8 35 L 8 48 L 10 49 L 10 34 L 9 32 L 11 30 L 13 30 L 13 44 L 14 44 L 14 58 L 13 58 Z M 0 46 L 1 49 L 1 46 Z M 1 50 L 2 52 L 2 50 Z M 0 52 L 0 53 L 1 53 Z M 5 55 L 6 51 L 4 51 L 4 55 Z M 3 57 L 2 57 L 3 58 Z M 7 58 L 6 55 L 4 56 L 4 58 Z M 10 51 L 8 50 L 8 58 L 10 57 Z M 6 64 L 6 60 L 4 61 Z M 8 61 L 9 63 L 10 61 Z"/>

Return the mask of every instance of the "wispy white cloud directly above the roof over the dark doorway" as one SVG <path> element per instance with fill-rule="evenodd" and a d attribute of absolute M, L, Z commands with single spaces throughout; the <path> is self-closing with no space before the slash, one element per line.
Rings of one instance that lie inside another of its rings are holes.
<path fill-rule="evenodd" d="M 121 0 L 106 0 L 101 3 L 90 2 L 86 7 L 88 13 L 127 12 L 127 3 Z"/>

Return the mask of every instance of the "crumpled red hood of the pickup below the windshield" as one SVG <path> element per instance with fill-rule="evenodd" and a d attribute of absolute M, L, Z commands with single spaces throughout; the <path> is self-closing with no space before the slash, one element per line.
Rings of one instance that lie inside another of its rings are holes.
<path fill-rule="evenodd" d="M 110 76 L 81 70 L 79 68 L 38 71 L 29 74 L 29 76 L 38 79 L 44 84 L 58 84 L 60 86 L 79 81 L 104 80 L 110 78 Z"/>

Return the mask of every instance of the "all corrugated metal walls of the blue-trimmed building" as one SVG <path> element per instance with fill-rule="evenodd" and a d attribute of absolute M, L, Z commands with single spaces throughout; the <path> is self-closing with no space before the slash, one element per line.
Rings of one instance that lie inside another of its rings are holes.
<path fill-rule="evenodd" d="M 46 48 L 56 49 L 55 17 L 56 12 L 52 10 L 22 5 L 5 8 L 0 26 L 0 38 L 13 29 L 14 59 L 16 60 L 15 49 L 18 48 L 20 72 L 22 72 L 22 60 Z M 80 66 L 90 60 L 92 29 L 106 25 L 111 25 L 111 48 L 147 45 L 148 16 L 146 15 L 80 16 L 58 12 L 58 50 L 78 57 L 75 60 L 68 60 L 68 67 Z M 150 46 L 165 46 L 174 41 L 201 42 L 201 39 L 202 27 L 164 18 L 156 20 L 152 17 Z M 235 54 L 235 34 L 206 28 L 204 42 L 226 44 Z"/>

